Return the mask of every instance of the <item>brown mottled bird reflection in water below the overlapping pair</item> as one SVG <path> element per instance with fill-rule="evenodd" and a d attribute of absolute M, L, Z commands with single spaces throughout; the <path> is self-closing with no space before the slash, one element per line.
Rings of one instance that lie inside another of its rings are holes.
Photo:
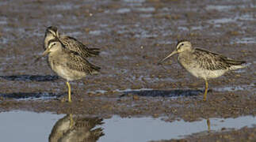
<path fill-rule="evenodd" d="M 59 119 L 49 136 L 50 142 L 95 142 L 104 136 L 103 129 L 94 129 L 97 125 L 102 125 L 102 118 L 73 117 L 67 114 Z"/>

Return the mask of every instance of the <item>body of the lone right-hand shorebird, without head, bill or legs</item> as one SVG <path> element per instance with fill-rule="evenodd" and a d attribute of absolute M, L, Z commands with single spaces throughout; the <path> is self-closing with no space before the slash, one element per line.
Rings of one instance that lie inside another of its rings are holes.
<path fill-rule="evenodd" d="M 180 53 L 178 60 L 193 76 L 204 79 L 220 77 L 228 70 L 243 68 L 245 63 L 200 48 Z"/>

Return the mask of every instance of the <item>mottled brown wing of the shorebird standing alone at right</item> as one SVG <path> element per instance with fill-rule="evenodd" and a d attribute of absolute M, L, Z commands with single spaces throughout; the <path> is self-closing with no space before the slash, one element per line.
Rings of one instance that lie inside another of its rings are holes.
<path fill-rule="evenodd" d="M 208 50 L 196 48 L 194 50 L 195 58 L 202 68 L 209 70 L 228 69 L 231 65 L 227 61 L 231 58 L 224 57 L 221 54 L 216 54 Z"/>

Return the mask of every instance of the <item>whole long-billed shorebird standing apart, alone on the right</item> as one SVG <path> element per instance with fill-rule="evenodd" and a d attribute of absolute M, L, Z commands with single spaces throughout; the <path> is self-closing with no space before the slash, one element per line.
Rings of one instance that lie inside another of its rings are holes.
<path fill-rule="evenodd" d="M 178 62 L 194 77 L 205 80 L 204 101 L 207 97 L 208 80 L 224 75 L 229 70 L 245 67 L 244 61 L 236 61 L 224 55 L 213 53 L 200 48 L 193 48 L 187 40 L 181 40 L 176 45 L 176 50 L 163 58 L 159 64 L 172 55 L 178 54 Z"/>

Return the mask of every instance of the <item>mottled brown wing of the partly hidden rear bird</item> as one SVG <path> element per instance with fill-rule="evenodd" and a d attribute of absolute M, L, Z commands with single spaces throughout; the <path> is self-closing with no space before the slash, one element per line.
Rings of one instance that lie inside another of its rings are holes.
<path fill-rule="evenodd" d="M 70 36 L 62 36 L 61 41 L 69 50 L 78 52 L 82 57 L 94 57 L 100 54 L 100 49 L 98 48 L 88 48 L 83 43 L 79 42 L 77 39 Z"/>

